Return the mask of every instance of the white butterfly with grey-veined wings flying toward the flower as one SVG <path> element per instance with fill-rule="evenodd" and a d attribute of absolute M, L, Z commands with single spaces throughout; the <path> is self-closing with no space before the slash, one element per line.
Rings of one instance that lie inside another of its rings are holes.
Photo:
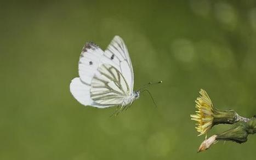
<path fill-rule="evenodd" d="M 79 77 L 72 79 L 70 92 L 85 106 L 117 106 L 117 112 L 140 96 L 133 91 L 132 61 L 123 39 L 115 36 L 103 51 L 93 42 L 84 45 L 78 63 Z"/>

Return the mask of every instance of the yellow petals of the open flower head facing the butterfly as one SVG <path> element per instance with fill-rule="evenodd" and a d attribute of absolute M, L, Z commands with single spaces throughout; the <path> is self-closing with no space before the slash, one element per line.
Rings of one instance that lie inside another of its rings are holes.
<path fill-rule="evenodd" d="M 190 115 L 191 119 L 197 121 L 196 130 L 199 135 L 206 134 L 213 127 L 214 107 L 205 90 L 201 89 L 201 95 L 196 99 L 196 115 Z M 198 136 L 199 136 L 198 135 Z"/>

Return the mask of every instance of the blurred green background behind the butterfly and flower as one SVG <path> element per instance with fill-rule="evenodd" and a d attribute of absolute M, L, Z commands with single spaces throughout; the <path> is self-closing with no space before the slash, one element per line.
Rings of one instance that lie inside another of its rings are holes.
<path fill-rule="evenodd" d="M 194 100 L 256 114 L 256 2 L 1 1 L 0 159 L 255 159 L 256 136 L 196 153 Z M 69 91 L 85 42 L 128 46 L 135 87 L 117 117 Z M 217 125 L 208 135 L 229 128 Z"/>

